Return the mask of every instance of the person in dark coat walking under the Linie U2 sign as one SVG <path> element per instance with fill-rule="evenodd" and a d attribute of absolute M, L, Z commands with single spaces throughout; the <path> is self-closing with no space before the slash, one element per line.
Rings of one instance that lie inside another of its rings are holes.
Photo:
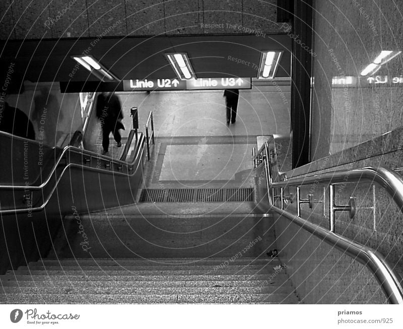
<path fill-rule="evenodd" d="M 97 117 L 100 119 L 102 127 L 103 154 L 107 154 L 109 150 L 110 133 L 113 133 L 117 147 L 122 146 L 119 129 L 124 129 L 124 126 L 121 122 L 123 113 L 119 97 L 117 97 L 115 93 L 102 93 L 98 95 L 96 110 Z"/>

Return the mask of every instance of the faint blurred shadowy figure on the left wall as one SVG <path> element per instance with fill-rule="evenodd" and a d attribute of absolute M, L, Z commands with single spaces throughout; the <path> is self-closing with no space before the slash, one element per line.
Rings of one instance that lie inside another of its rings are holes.
<path fill-rule="evenodd" d="M 40 131 L 39 139 L 54 146 L 57 143 L 57 120 L 63 119 L 62 113 L 59 112 L 59 102 L 56 96 L 50 93 L 48 87 L 42 87 L 40 94 L 35 96 L 34 103 L 32 118 L 36 121 Z"/>

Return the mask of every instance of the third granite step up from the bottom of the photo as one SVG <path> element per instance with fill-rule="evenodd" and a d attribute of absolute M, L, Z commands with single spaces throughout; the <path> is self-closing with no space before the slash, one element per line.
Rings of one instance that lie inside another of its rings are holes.
<path fill-rule="evenodd" d="M 114 281 L 145 281 L 145 282 L 159 282 L 159 281 L 265 281 L 267 284 L 278 284 L 281 285 L 288 281 L 287 274 L 254 274 L 254 275 L 154 275 L 154 276 L 140 276 L 140 275 L 4 275 L 0 277 L 0 282 L 6 283 L 8 281 L 29 281 L 29 282 L 45 282 L 49 284 L 62 284 L 70 281 L 79 282 L 114 282 Z"/>

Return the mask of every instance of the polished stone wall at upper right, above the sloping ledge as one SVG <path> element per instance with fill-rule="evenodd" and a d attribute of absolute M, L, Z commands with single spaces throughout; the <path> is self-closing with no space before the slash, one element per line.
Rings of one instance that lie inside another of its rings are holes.
<path fill-rule="evenodd" d="M 401 50 L 402 2 L 321 0 L 315 2 L 311 160 L 368 141 L 401 126 L 403 74 L 401 54 L 375 73 L 385 84 L 369 84 L 361 71 L 381 50 Z M 356 85 L 332 85 L 333 77 L 351 76 Z"/>

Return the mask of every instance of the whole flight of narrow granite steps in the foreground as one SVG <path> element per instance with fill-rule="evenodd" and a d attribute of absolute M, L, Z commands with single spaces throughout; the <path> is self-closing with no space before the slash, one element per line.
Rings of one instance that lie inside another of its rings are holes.
<path fill-rule="evenodd" d="M 227 265 L 228 264 L 228 265 Z M 298 298 L 278 259 L 43 259 L 2 276 L 2 303 L 265 303 Z"/>

